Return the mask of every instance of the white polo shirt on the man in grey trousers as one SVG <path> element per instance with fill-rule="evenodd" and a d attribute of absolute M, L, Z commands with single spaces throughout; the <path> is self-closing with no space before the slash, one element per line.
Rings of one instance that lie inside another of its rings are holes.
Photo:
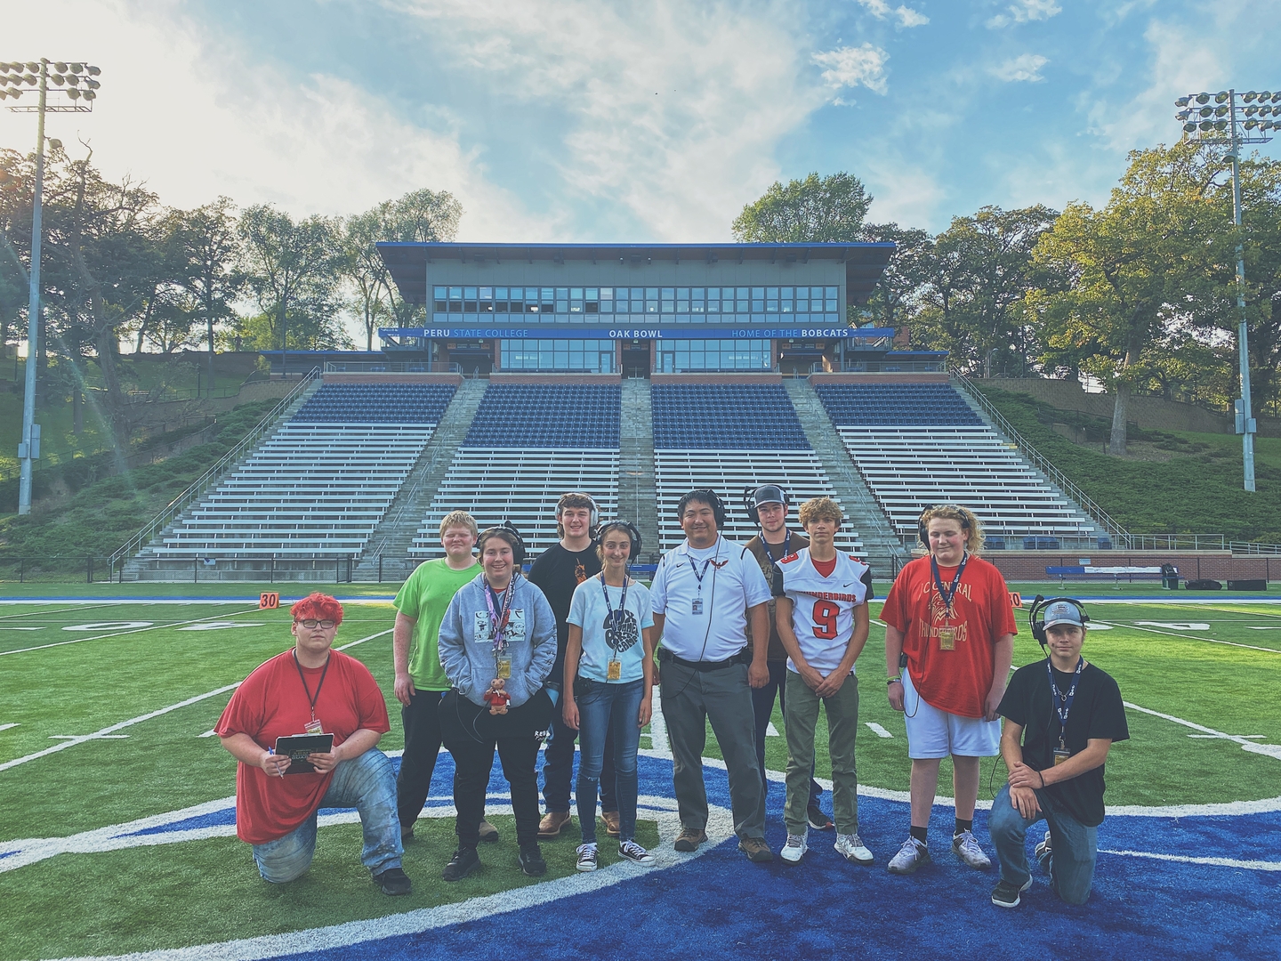
<path fill-rule="evenodd" d="M 747 610 L 770 600 L 770 586 L 744 545 L 717 537 L 705 550 L 685 541 L 665 554 L 649 598 L 666 616 L 665 648 L 687 661 L 724 661 L 747 645 Z"/>

